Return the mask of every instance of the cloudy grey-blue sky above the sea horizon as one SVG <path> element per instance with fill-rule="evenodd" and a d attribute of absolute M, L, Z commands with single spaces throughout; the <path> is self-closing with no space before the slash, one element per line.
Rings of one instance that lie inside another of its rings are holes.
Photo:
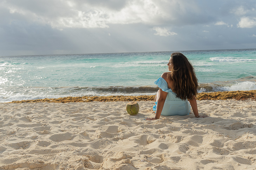
<path fill-rule="evenodd" d="M 0 0 L 0 56 L 244 48 L 255 0 Z"/>

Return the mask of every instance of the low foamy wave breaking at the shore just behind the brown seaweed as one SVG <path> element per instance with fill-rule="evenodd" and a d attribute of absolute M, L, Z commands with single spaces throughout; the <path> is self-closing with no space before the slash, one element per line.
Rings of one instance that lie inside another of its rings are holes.
<path fill-rule="evenodd" d="M 110 87 L 8 87 L 0 90 L 0 102 L 14 100 L 35 100 L 44 98 L 78 97 L 78 96 L 110 96 L 110 95 L 155 95 L 157 86 L 110 86 Z M 217 91 L 256 90 L 256 82 L 199 84 L 198 93 Z"/>

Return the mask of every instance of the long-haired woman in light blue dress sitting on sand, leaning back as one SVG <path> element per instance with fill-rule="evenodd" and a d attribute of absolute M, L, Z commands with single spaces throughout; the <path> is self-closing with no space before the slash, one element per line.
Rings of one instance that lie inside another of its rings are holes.
<path fill-rule="evenodd" d="M 171 54 L 168 69 L 155 81 L 159 90 L 155 97 L 156 111 L 155 118 L 147 118 L 146 120 L 156 120 L 163 116 L 188 115 L 190 105 L 196 118 L 204 118 L 198 114 L 196 95 L 198 80 L 196 78 L 195 69 L 182 53 L 175 52 Z M 189 102 L 190 105 L 189 105 Z"/>

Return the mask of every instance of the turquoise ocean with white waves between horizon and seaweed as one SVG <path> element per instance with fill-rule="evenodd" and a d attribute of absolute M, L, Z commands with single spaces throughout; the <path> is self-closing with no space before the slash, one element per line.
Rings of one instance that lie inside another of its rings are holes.
<path fill-rule="evenodd" d="M 0 102 L 43 98 L 153 95 L 172 52 L 0 57 Z M 198 92 L 256 90 L 256 49 L 182 52 Z"/>

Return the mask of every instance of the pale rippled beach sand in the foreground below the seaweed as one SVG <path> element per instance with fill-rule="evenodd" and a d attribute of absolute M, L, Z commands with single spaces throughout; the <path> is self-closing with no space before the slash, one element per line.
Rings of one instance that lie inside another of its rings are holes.
<path fill-rule="evenodd" d="M 209 118 L 154 117 L 152 101 L 0 104 L 0 169 L 256 169 L 256 101 L 198 101 Z"/>

